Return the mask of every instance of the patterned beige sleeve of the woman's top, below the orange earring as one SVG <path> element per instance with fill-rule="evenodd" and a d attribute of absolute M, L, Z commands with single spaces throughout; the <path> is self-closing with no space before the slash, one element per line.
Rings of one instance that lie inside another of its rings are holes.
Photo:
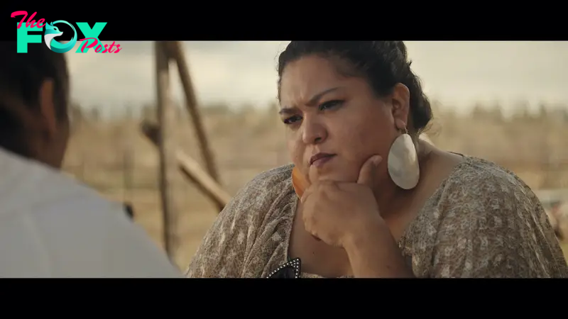
<path fill-rule="evenodd" d="M 200 278 L 260 276 L 267 248 L 267 216 L 290 188 L 291 167 L 263 172 L 249 181 L 207 231 L 185 275 Z M 270 219 L 270 218 L 268 218 Z"/>

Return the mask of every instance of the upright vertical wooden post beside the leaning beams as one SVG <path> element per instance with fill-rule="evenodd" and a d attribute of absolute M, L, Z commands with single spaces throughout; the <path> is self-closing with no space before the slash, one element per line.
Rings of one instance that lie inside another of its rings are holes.
<path fill-rule="evenodd" d="M 174 181 L 178 174 L 175 144 L 175 110 L 170 100 L 170 59 L 165 52 L 165 45 L 155 42 L 155 70 L 158 98 L 158 150 L 160 153 L 160 196 L 163 211 L 163 240 L 165 251 L 170 259 L 175 253 L 175 222 L 178 207 L 175 203 Z"/>

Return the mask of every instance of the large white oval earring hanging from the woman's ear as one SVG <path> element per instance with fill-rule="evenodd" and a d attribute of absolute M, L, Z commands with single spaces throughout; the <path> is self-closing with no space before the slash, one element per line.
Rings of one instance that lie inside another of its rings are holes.
<path fill-rule="evenodd" d="M 395 139 L 388 152 L 388 174 L 401 189 L 413 189 L 420 179 L 418 155 L 408 130 Z"/>

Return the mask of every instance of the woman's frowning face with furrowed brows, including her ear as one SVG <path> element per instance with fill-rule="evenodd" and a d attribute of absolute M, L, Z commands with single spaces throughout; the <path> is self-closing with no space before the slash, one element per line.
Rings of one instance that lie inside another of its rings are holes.
<path fill-rule="evenodd" d="M 388 150 L 400 135 L 397 125 L 407 123 L 408 101 L 406 86 L 380 98 L 366 79 L 338 74 L 324 57 L 289 63 L 280 83 L 280 116 L 293 163 L 311 182 L 354 182 L 364 162 L 378 154 L 383 181 Z M 330 156 L 314 162 L 318 154 Z"/>

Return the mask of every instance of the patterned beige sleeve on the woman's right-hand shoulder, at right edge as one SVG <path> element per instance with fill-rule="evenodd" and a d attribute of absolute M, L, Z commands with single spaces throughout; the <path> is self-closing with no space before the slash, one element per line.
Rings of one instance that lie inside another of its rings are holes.
<path fill-rule="evenodd" d="M 520 179 L 487 170 L 444 193 L 431 277 L 568 276 L 546 213 Z"/>

